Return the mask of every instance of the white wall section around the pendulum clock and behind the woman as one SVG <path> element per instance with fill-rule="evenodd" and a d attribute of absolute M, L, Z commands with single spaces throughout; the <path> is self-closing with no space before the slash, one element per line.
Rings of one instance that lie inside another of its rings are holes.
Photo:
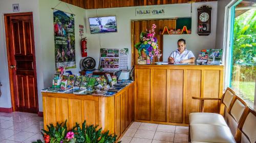
<path fill-rule="evenodd" d="M 216 23 L 217 23 L 217 2 L 207 3 L 211 7 L 211 33 L 208 36 L 199 36 L 197 34 L 197 9 L 201 3 L 193 5 L 191 34 L 184 35 L 164 35 L 163 37 L 163 61 L 167 61 L 170 53 L 177 49 L 177 41 L 181 38 L 186 40 L 186 47 L 191 50 L 196 59 L 202 49 L 214 49 L 216 42 Z M 204 5 L 204 4 L 203 4 Z M 219 8 L 218 8 L 219 9 Z"/>

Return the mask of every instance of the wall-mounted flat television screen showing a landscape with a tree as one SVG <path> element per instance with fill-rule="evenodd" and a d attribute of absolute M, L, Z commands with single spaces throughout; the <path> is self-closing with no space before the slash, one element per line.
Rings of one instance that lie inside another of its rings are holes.
<path fill-rule="evenodd" d="M 89 18 L 91 34 L 117 32 L 116 16 Z"/>

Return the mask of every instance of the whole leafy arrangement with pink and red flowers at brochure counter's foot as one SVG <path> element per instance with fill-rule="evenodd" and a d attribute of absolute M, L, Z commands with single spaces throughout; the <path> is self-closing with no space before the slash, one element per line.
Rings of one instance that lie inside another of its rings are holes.
<path fill-rule="evenodd" d="M 47 128 L 48 131 L 44 129 L 41 131 L 45 142 L 38 139 L 33 143 L 114 143 L 117 137 L 109 134 L 109 131 L 102 133 L 101 128 L 97 129 L 98 126 L 86 125 L 86 121 L 82 123 L 82 127 L 76 123 L 76 126 L 69 132 L 67 131 L 67 120 L 64 123 L 57 123 L 56 126 L 53 126 L 53 124 L 47 125 Z"/>

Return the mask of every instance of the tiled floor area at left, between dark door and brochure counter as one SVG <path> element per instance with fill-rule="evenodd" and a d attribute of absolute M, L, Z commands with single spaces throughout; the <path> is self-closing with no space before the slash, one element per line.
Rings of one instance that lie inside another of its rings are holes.
<path fill-rule="evenodd" d="M 42 117 L 26 112 L 0 112 L 0 143 L 31 143 L 42 139 Z"/>

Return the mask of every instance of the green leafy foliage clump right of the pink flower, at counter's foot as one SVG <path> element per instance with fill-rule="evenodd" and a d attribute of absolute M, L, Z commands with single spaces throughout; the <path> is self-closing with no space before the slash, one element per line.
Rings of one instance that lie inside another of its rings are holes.
<path fill-rule="evenodd" d="M 98 129 L 98 126 L 86 125 L 86 121 L 82 123 L 82 128 L 76 123 L 73 128 L 77 143 L 113 143 L 116 141 L 116 135 L 109 135 L 109 131 L 104 133 L 102 129 Z M 121 141 L 119 141 L 121 142 Z"/>

